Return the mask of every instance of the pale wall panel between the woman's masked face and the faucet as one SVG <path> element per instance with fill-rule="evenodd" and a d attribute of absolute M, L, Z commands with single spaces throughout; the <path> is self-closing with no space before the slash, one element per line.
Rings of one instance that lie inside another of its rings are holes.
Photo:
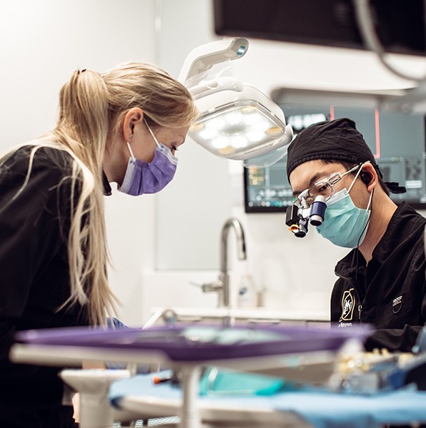
<path fill-rule="evenodd" d="M 177 78 L 192 49 L 218 39 L 212 7 L 205 0 L 161 4 L 157 60 Z M 154 267 L 214 269 L 219 265 L 219 231 L 231 214 L 228 165 L 192 141 L 179 148 L 178 156 L 176 177 L 156 198 Z"/>

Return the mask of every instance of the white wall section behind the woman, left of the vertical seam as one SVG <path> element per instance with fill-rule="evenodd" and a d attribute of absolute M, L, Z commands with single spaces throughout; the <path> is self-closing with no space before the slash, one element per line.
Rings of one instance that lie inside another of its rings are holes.
<path fill-rule="evenodd" d="M 154 0 L 1 1 L 0 151 L 54 127 L 59 89 L 76 68 L 154 62 L 154 7 Z M 106 198 L 110 277 L 130 321 L 140 314 L 153 212 L 152 198 Z"/>

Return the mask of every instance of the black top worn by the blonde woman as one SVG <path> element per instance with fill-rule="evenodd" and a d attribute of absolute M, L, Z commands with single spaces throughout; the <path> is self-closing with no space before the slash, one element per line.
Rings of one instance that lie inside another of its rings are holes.
<path fill-rule="evenodd" d="M 26 420 L 38 426 L 34 414 L 40 409 L 46 417 L 40 426 L 50 426 L 49 412 L 58 413 L 64 388 L 57 367 L 9 362 L 14 333 L 88 324 L 85 306 L 77 303 L 58 310 L 70 294 L 72 158 L 51 147 L 38 148 L 31 156 L 33 149 L 19 148 L 0 167 L 1 427 L 6 426 L 1 421 L 7 414 L 22 420 L 32 414 Z"/>

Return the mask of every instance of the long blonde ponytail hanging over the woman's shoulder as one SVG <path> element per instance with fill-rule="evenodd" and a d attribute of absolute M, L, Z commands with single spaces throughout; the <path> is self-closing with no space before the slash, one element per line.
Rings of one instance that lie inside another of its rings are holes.
<path fill-rule="evenodd" d="M 102 159 L 109 133 L 108 92 L 94 71 L 76 71 L 61 89 L 59 120 L 54 135 L 74 158 L 71 203 L 79 198 L 68 239 L 71 295 L 63 306 L 79 302 L 89 306 L 94 325 L 103 325 L 115 312 L 116 298 L 108 285 Z"/>

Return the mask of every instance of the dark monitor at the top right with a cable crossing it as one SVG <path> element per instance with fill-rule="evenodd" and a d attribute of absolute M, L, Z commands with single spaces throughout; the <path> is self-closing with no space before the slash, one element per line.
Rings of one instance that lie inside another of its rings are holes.
<path fill-rule="evenodd" d="M 386 51 L 425 54 L 424 0 L 370 0 Z M 365 49 L 352 0 L 214 0 L 221 36 Z"/>

